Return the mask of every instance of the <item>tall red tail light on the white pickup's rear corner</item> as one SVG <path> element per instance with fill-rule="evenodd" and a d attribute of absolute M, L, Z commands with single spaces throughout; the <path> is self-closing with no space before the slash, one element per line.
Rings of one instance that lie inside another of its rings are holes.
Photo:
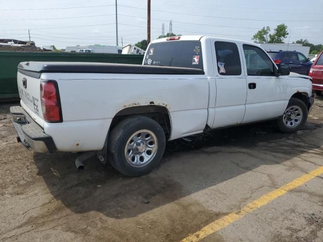
<path fill-rule="evenodd" d="M 60 94 L 56 81 L 41 81 L 40 102 L 46 122 L 63 122 Z"/>

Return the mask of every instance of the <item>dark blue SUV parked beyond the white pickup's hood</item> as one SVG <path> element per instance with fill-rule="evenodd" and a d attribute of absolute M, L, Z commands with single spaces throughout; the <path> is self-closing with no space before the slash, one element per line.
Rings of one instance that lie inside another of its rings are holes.
<path fill-rule="evenodd" d="M 284 64 L 290 67 L 291 72 L 308 75 L 312 62 L 304 54 L 297 51 L 267 51 L 273 61 L 279 65 Z"/>

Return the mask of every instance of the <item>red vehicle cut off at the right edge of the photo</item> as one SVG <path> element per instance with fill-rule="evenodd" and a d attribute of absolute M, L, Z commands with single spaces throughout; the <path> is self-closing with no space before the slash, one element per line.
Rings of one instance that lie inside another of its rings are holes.
<path fill-rule="evenodd" d="M 323 92 L 323 51 L 317 56 L 308 76 L 312 77 L 313 91 L 318 95 Z"/>

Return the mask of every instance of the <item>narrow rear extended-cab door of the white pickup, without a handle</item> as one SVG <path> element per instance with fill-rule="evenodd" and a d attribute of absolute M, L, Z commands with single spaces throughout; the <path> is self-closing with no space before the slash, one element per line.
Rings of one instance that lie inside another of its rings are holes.
<path fill-rule="evenodd" d="M 215 117 L 211 128 L 241 124 L 245 113 L 247 83 L 238 43 L 211 39 L 215 49 L 214 77 L 217 95 Z"/>

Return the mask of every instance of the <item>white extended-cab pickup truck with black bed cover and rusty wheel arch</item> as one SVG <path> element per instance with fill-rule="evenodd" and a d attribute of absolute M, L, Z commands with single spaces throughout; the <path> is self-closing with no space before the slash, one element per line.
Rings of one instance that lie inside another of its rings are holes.
<path fill-rule="evenodd" d="M 310 77 L 277 67 L 258 45 L 207 36 L 152 41 L 142 65 L 24 62 L 18 141 L 35 152 L 97 154 L 128 176 L 150 172 L 166 140 L 277 119 L 299 130 L 314 102 Z"/>

